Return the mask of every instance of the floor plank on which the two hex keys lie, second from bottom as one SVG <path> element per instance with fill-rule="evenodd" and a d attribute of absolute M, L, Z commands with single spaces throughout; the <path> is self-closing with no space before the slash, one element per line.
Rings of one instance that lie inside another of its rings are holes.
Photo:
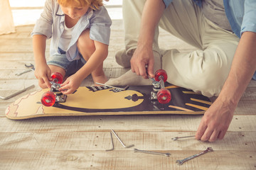
<path fill-rule="evenodd" d="M 173 137 L 193 135 L 194 132 L 118 132 L 125 145 L 134 144 L 135 148 L 151 151 L 201 150 L 212 147 L 214 150 L 256 150 L 256 132 L 228 132 L 223 140 L 201 142 L 193 137 L 171 140 Z M 0 144 L 5 150 L 90 150 L 105 151 L 112 147 L 110 130 L 95 132 L 0 132 L 4 139 Z M 114 150 L 127 150 L 113 135 Z M 72 144 L 72 145 L 70 145 Z M 86 145 L 82 145 L 86 144 Z"/>

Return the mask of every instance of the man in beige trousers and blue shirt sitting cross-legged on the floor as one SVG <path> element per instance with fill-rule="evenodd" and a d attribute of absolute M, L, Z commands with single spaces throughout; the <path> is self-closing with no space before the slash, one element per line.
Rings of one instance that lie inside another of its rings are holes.
<path fill-rule="evenodd" d="M 124 67 L 130 61 L 132 69 L 107 84 L 148 84 L 146 65 L 151 77 L 162 67 L 169 83 L 218 96 L 196 139 L 223 139 L 247 84 L 256 78 L 256 1 L 134 0 L 123 1 L 123 12 L 126 47 L 116 59 Z M 198 50 L 161 53 L 158 26 Z"/>

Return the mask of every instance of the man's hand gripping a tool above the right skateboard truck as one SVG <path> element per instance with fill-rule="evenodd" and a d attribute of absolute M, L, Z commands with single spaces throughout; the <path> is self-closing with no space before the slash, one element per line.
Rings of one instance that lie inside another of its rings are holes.
<path fill-rule="evenodd" d="M 147 66 L 147 70 L 146 70 Z M 138 76 L 144 79 L 154 77 L 154 55 L 153 50 L 145 45 L 138 45 L 131 59 L 132 72 L 136 72 Z"/>

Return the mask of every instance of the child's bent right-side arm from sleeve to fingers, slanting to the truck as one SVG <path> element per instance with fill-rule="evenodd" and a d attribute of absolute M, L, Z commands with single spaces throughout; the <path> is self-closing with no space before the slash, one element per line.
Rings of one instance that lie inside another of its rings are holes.
<path fill-rule="evenodd" d="M 91 74 L 93 70 L 99 67 L 107 58 L 108 45 L 96 40 L 94 43 L 95 52 L 92 53 L 92 56 L 87 60 L 85 65 L 61 84 L 61 88 L 59 90 L 62 91 L 63 94 L 72 94 L 76 89 L 78 89 L 82 80 Z"/>

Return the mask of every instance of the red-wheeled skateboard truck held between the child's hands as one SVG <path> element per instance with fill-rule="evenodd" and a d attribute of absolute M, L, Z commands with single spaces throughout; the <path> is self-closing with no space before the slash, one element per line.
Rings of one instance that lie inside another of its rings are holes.
<path fill-rule="evenodd" d="M 55 103 L 63 103 L 67 98 L 67 95 L 59 91 L 60 84 L 63 81 L 62 74 L 55 72 L 51 75 L 51 78 L 53 79 L 53 81 L 50 81 L 50 91 L 44 93 L 41 98 L 41 103 L 43 104 L 43 106 L 48 107 L 53 106 Z"/>

